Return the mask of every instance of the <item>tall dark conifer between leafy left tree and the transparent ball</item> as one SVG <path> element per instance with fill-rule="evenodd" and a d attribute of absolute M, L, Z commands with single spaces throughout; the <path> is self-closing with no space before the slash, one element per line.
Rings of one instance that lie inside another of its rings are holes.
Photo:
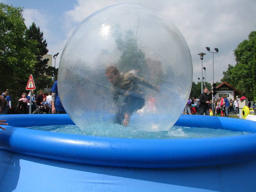
<path fill-rule="evenodd" d="M 47 43 L 44 39 L 43 31 L 40 31 L 39 27 L 33 22 L 32 25 L 26 31 L 26 38 L 36 42 L 36 49 L 34 53 L 36 55 L 36 65 L 33 72 L 37 90 L 43 89 L 48 86 L 52 86 L 52 76 L 56 74 L 56 69 L 52 66 L 47 66 L 49 59 L 42 59 L 45 54 L 48 53 Z"/>

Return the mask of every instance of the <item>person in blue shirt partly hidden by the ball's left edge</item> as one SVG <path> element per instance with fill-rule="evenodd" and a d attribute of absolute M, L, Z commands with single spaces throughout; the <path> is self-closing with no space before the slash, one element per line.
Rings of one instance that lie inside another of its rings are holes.
<path fill-rule="evenodd" d="M 52 85 L 52 113 L 53 114 L 65 114 L 66 111 L 60 101 L 58 92 L 58 81 L 55 81 Z"/>

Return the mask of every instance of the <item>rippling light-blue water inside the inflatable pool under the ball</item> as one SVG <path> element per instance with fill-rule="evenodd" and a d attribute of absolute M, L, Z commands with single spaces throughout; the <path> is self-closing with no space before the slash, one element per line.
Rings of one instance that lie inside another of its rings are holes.
<path fill-rule="evenodd" d="M 93 126 L 80 129 L 76 125 L 45 125 L 32 126 L 29 129 L 36 129 L 50 132 L 91 135 L 99 137 L 119 137 L 119 138 L 141 138 L 141 139 L 188 139 L 205 137 L 227 137 L 246 135 L 250 132 L 234 132 L 224 129 L 211 129 L 199 127 L 173 126 L 168 131 L 141 131 L 132 127 L 124 126 Z"/>

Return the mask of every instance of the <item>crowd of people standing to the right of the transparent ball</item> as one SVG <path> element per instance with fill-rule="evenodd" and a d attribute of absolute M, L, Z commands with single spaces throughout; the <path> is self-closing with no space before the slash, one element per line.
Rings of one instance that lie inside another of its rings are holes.
<path fill-rule="evenodd" d="M 199 98 L 189 98 L 184 108 L 183 114 L 210 115 L 210 111 L 212 110 L 212 100 L 210 100 L 208 92 L 209 90 L 205 88 Z M 235 100 L 232 100 L 228 99 L 224 94 L 220 98 L 214 98 L 213 113 L 217 116 L 221 116 L 221 114 L 223 114 L 223 116 L 228 117 L 230 113 L 237 114 L 237 116 L 239 116 L 238 100 L 238 96 L 236 96 Z M 256 110 L 255 103 L 251 104 L 251 102 L 249 101 L 248 107 L 252 107 L 253 110 Z"/>

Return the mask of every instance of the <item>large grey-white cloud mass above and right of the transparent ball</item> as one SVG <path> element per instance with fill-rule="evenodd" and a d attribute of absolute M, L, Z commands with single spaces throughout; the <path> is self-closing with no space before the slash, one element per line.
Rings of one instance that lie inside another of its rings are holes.
<path fill-rule="evenodd" d="M 219 48 L 214 54 L 214 80 L 220 81 L 222 72 L 228 64 L 235 65 L 233 50 L 255 30 L 256 2 L 254 0 L 241 2 L 232 1 L 179 1 L 163 0 L 78 0 L 72 10 L 64 13 L 62 19 L 63 30 L 67 39 L 76 26 L 93 12 L 109 5 L 131 3 L 147 7 L 159 12 L 166 20 L 172 21 L 180 29 L 190 48 L 194 67 L 194 81 L 201 76 L 201 60 L 197 55 L 205 52 L 203 64 L 207 68 L 206 80 L 212 81 L 212 53 L 211 50 Z"/>

